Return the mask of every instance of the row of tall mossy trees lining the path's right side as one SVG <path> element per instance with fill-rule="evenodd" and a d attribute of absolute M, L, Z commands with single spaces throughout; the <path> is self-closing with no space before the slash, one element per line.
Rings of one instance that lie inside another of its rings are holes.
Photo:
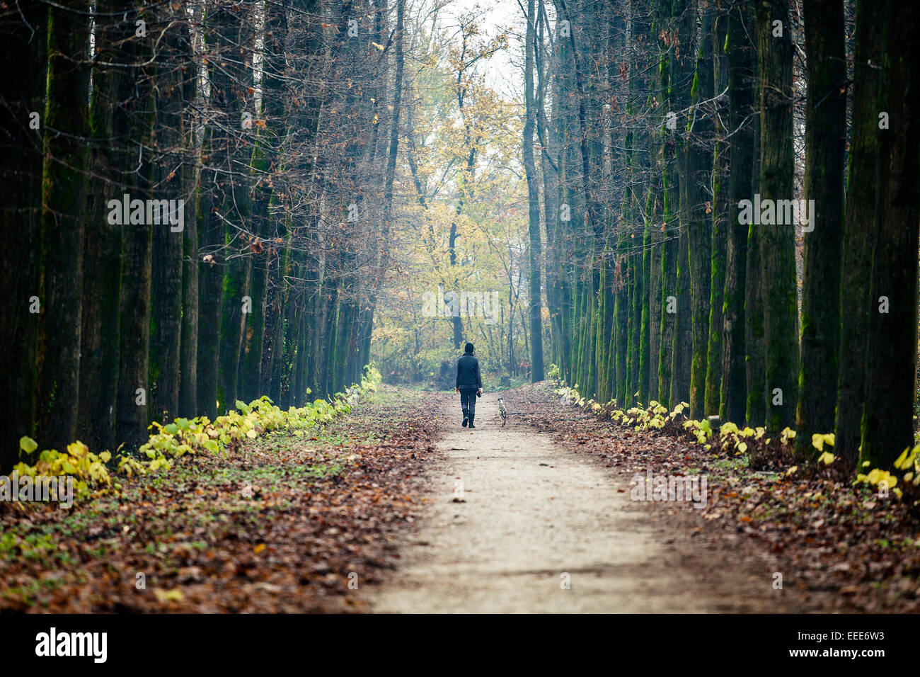
<path fill-rule="evenodd" d="M 546 224 L 531 284 L 546 276 L 564 378 L 601 402 L 790 426 L 801 453 L 835 431 L 854 465 L 912 445 L 913 8 L 529 0 L 526 16 L 523 160 L 532 233 L 541 197 Z"/>

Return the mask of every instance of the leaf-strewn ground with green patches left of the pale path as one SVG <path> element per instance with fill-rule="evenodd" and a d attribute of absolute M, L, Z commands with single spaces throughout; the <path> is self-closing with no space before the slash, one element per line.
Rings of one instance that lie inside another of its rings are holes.
<path fill-rule="evenodd" d="M 432 403 L 384 387 L 327 426 L 185 456 L 120 496 L 0 503 L 0 612 L 360 612 L 420 507 L 435 426 Z"/>

